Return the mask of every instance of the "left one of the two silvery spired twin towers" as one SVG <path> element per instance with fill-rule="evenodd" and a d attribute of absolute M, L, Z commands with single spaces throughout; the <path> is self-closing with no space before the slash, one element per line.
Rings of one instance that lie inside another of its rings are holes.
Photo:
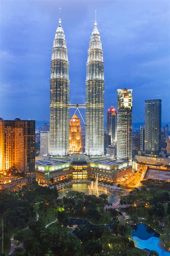
<path fill-rule="evenodd" d="M 52 48 L 50 80 L 50 154 L 69 153 L 69 62 L 61 18 Z"/>

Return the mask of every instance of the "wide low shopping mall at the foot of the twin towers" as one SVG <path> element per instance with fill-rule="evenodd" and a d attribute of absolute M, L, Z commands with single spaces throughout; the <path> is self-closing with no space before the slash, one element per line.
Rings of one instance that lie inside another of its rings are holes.
<path fill-rule="evenodd" d="M 67 178 L 88 179 L 96 175 L 99 180 L 119 182 L 132 173 L 132 163 L 109 157 L 89 157 L 71 154 L 68 157 L 36 157 L 38 181 L 55 181 Z"/>

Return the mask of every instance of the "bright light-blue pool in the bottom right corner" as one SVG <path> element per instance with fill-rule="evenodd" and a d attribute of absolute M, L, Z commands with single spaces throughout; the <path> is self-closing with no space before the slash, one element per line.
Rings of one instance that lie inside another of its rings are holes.
<path fill-rule="evenodd" d="M 170 256 L 170 252 L 164 251 L 159 247 L 160 239 L 158 237 L 150 237 L 147 240 L 142 240 L 138 237 L 132 237 L 135 245 L 141 249 L 147 248 L 159 253 L 159 256 Z"/>

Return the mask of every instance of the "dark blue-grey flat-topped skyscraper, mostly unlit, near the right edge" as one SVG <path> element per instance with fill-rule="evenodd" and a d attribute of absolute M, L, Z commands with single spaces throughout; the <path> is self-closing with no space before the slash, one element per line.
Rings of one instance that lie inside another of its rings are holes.
<path fill-rule="evenodd" d="M 145 152 L 159 153 L 161 142 L 161 99 L 145 100 Z"/>

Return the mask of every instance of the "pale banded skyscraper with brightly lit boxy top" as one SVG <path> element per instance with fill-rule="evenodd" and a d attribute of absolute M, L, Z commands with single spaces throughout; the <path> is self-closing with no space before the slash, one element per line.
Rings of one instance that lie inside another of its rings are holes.
<path fill-rule="evenodd" d="M 117 158 L 132 160 L 132 89 L 117 92 Z"/>

